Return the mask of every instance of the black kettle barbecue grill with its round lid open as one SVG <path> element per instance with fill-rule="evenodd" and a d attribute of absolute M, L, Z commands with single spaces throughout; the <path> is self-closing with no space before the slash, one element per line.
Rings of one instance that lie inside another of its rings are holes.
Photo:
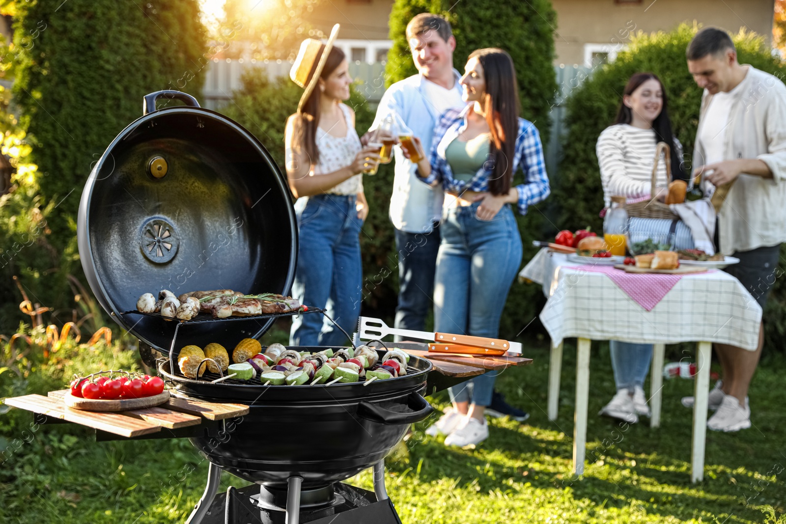
<path fill-rule="evenodd" d="M 157 109 L 161 97 L 185 106 Z M 147 95 L 141 118 L 112 141 L 86 182 L 78 237 L 101 306 L 140 339 L 143 359 L 176 394 L 250 406 L 240 420 L 189 434 L 210 467 L 188 522 L 400 522 L 383 461 L 410 423 L 433 410 L 423 398 L 428 360 L 411 357 L 406 376 L 367 385 L 211 383 L 219 377 L 209 373 L 187 379 L 176 365 L 183 346 L 232 348 L 259 338 L 277 316 L 180 322 L 135 311 L 139 295 L 160 289 L 288 294 L 296 215 L 285 177 L 252 134 L 185 93 Z M 368 467 L 375 493 L 341 483 Z M 216 496 L 221 471 L 254 485 Z"/>

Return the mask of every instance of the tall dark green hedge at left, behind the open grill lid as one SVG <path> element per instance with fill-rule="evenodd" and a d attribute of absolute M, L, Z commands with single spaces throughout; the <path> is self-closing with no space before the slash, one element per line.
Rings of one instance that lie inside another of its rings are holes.
<path fill-rule="evenodd" d="M 84 182 L 112 139 L 141 116 L 146 93 L 173 87 L 198 95 L 206 36 L 193 0 L 17 2 L 13 101 L 23 115 L 26 162 L 0 200 L 0 332 L 17 328 L 18 275 L 28 295 L 74 306 L 66 276 L 81 276 L 76 214 Z M 17 219 L 17 217 L 19 217 Z M 10 261 L 10 262 L 8 262 Z"/>

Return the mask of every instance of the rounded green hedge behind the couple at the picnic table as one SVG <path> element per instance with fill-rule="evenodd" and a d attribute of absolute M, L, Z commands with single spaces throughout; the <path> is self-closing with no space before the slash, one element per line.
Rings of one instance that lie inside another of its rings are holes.
<path fill-rule="evenodd" d="M 598 212 L 603 207 L 603 189 L 595 144 L 601 131 L 614 122 L 620 101 L 618 93 L 623 92 L 634 73 L 652 71 L 663 82 L 674 134 L 684 146 L 685 158 L 690 159 L 699 123 L 702 90 L 688 72 L 685 49 L 696 30 L 696 26 L 682 24 L 673 31 L 638 35 L 612 64 L 592 71 L 589 78 L 571 92 L 566 104 L 567 134 L 562 139 L 564 153 L 560 160 L 560 176 L 551 196 L 558 217 L 550 231 L 552 235 L 557 229 L 577 229 L 585 225 L 602 230 Z M 751 64 L 784 77 L 786 65 L 773 57 L 764 37 L 740 32 L 733 40 L 741 64 Z M 786 259 L 784 256 L 786 247 L 782 260 Z M 786 335 L 786 284 L 783 280 L 776 280 L 765 311 L 766 346 L 770 348 L 781 348 L 780 341 Z"/>

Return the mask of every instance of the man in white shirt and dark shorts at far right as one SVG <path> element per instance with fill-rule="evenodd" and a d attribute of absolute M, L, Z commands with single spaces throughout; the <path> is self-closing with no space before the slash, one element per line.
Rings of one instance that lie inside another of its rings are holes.
<path fill-rule="evenodd" d="M 786 241 L 786 86 L 773 75 L 737 62 L 729 35 L 706 27 L 687 50 L 688 69 L 704 89 L 693 175 L 714 189 L 718 251 L 740 258 L 726 271 L 740 280 L 762 309 L 779 273 Z M 710 393 L 707 420 L 716 431 L 751 427 L 747 390 L 764 342 L 755 351 L 715 344 L 722 383 Z M 683 400 L 692 405 L 692 398 Z"/>

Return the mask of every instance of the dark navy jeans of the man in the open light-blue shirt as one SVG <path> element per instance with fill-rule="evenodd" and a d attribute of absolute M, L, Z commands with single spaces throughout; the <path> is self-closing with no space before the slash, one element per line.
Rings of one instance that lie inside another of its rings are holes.
<path fill-rule="evenodd" d="M 428 310 L 433 306 L 439 225 L 435 225 L 431 233 L 394 230 L 399 259 L 399 305 L 393 325 L 399 329 L 424 331 Z M 396 342 L 400 340 L 402 337 L 396 335 Z"/>

